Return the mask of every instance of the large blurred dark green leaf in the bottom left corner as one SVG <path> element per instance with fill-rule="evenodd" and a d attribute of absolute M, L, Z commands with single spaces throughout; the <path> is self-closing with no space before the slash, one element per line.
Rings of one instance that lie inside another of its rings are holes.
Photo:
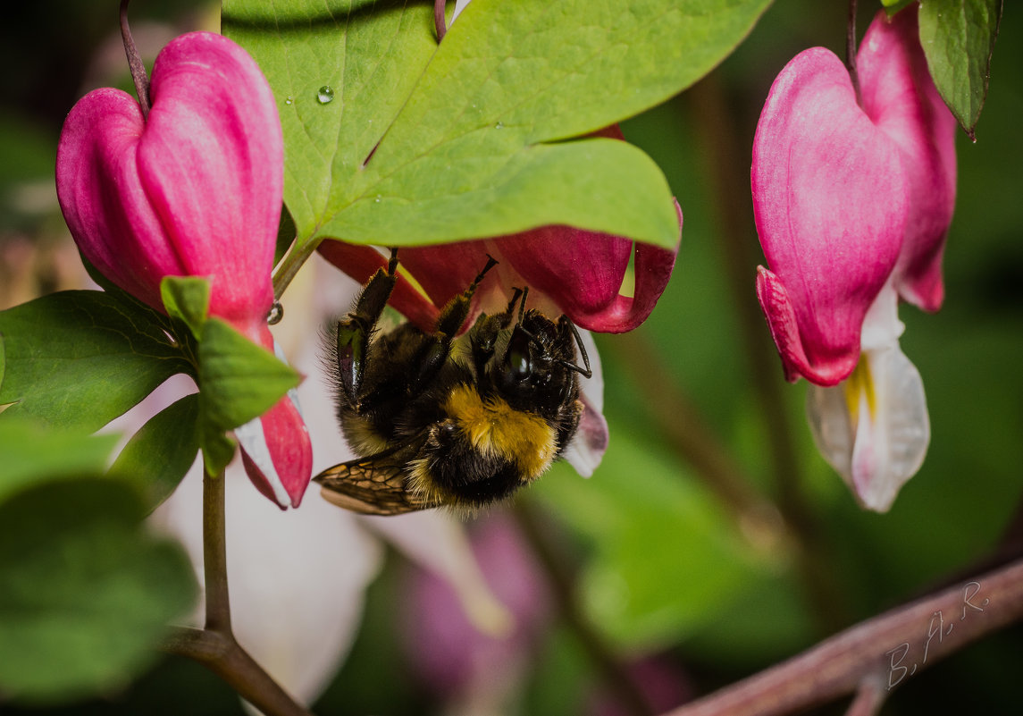
<path fill-rule="evenodd" d="M 196 596 L 179 545 L 129 486 L 52 482 L 0 504 L 0 692 L 31 703 L 124 686 Z"/>

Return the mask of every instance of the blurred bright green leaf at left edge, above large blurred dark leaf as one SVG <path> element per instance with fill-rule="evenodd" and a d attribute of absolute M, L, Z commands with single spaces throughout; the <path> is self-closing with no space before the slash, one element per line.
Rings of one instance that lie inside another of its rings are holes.
<path fill-rule="evenodd" d="M 117 441 L 116 435 L 50 431 L 17 417 L 0 419 L 0 502 L 37 482 L 101 474 Z"/>

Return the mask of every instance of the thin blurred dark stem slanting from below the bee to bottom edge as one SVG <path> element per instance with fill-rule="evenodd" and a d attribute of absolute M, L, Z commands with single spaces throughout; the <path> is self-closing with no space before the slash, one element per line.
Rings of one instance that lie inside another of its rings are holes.
<path fill-rule="evenodd" d="M 613 698 L 632 716 L 650 716 L 653 711 L 639 688 L 628 675 L 623 664 L 605 643 L 604 638 L 593 629 L 579 610 L 575 589 L 568 577 L 568 570 L 544 537 L 528 500 L 517 500 L 511 512 L 546 575 L 548 586 L 562 619 L 579 640 L 596 670 L 604 676 Z"/>

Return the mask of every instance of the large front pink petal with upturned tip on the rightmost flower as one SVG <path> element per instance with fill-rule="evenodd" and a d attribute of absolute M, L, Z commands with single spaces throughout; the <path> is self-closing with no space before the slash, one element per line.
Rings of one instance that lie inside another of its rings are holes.
<path fill-rule="evenodd" d="M 771 273 L 761 272 L 758 293 L 787 376 L 833 385 L 855 365 L 863 316 L 898 258 L 908 197 L 897 146 L 856 104 L 829 50 L 801 52 L 774 81 L 752 186 Z"/>

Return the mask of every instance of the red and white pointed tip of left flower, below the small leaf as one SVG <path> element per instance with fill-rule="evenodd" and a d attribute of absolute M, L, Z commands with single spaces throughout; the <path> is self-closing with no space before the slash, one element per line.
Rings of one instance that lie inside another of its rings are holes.
<path fill-rule="evenodd" d="M 281 509 L 298 507 L 312 478 L 312 443 L 294 390 L 234 431 L 246 473 Z"/>

